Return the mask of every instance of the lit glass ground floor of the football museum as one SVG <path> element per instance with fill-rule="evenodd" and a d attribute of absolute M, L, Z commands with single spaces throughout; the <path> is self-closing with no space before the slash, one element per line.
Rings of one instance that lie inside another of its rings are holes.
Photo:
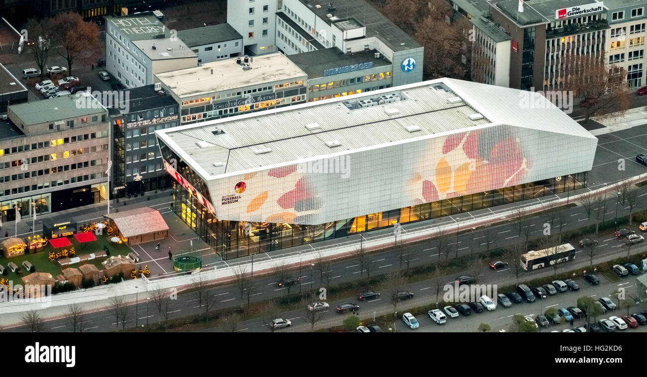
<path fill-rule="evenodd" d="M 229 260 L 259 252 L 285 249 L 325 239 L 383 229 L 395 223 L 406 224 L 441 218 L 577 190 L 586 187 L 586 178 L 587 173 L 581 172 L 319 225 L 250 223 L 250 229 L 247 226 L 247 221 L 218 220 L 177 181 L 174 181 L 173 184 L 171 208 L 186 225 L 213 247 L 215 252 L 224 260 Z"/>

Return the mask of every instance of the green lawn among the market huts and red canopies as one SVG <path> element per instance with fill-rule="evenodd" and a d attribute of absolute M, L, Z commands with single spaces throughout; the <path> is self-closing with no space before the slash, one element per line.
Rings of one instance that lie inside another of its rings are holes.
<path fill-rule="evenodd" d="M 96 241 L 85 242 L 82 244 L 78 243 L 75 238 L 70 238 L 70 242 L 72 243 L 74 250 L 76 250 L 76 256 L 103 250 L 104 245 L 107 245 L 107 247 L 109 248 L 110 255 L 127 255 L 129 252 L 131 252 L 131 249 L 125 243 L 119 243 L 115 246 L 111 245 L 110 236 L 96 236 Z M 69 249 L 69 247 L 63 249 Z M 80 265 L 85 263 L 95 265 L 99 270 L 102 270 L 101 262 L 106 260 L 107 258 L 96 258 L 90 261 L 73 263 L 71 265 L 65 265 L 61 267 L 61 265 L 58 264 L 58 261 L 49 260 L 49 252 L 51 250 L 54 250 L 54 248 L 49 245 L 49 243 L 45 245 L 45 247 L 41 248 L 41 250 L 42 251 L 36 252 L 36 254 L 25 254 L 14 258 L 7 259 L 4 256 L 0 257 L 0 265 L 3 265 L 3 267 L 5 267 L 5 270 L 9 272 L 7 276 L 2 276 L 2 278 L 8 278 L 8 280 L 12 280 L 14 281 L 14 284 L 21 283 L 20 278 L 30 274 L 30 272 L 25 271 L 25 268 L 22 266 L 23 261 L 29 261 L 30 263 L 32 263 L 32 265 L 36 267 L 36 272 L 49 272 L 54 278 L 56 278 L 56 276 L 61 273 L 61 270 L 67 269 L 67 267 L 78 268 Z M 16 263 L 16 265 L 20 267 L 22 273 L 17 275 L 16 273 L 11 272 L 11 270 L 7 267 L 7 263 L 9 262 Z"/>

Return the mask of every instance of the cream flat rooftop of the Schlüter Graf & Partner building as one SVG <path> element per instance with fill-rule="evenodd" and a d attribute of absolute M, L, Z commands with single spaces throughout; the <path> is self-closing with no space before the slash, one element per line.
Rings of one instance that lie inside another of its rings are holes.
<path fill-rule="evenodd" d="M 156 76 L 178 97 L 212 94 L 306 76 L 303 70 L 280 52 L 254 56 L 253 60 L 250 70 L 243 70 L 234 57 Z"/>

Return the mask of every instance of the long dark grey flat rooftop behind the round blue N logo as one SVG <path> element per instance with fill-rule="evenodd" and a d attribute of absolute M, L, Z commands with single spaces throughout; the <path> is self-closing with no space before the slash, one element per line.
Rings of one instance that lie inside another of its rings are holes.
<path fill-rule="evenodd" d="M 344 0 L 332 2 L 335 6 L 334 11 L 328 10 L 328 3 L 331 1 L 323 0 L 300 0 L 314 14 L 318 15 L 328 25 L 334 23 L 327 14 L 332 14 L 338 19 L 347 19 L 355 17 L 357 21 L 366 26 L 366 37 L 378 37 L 385 45 L 395 52 L 411 50 L 412 48 L 422 47 L 411 36 L 395 26 L 385 15 L 381 14 L 372 5 L 364 0 Z M 320 8 L 316 6 L 319 5 Z M 342 25 L 343 29 L 343 25 Z"/>

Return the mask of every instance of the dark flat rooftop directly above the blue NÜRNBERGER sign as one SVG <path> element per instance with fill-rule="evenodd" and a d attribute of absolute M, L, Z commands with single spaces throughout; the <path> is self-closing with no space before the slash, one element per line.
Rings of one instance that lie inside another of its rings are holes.
<path fill-rule="evenodd" d="M 367 62 L 373 62 L 373 66 L 391 65 L 389 59 L 386 59 L 386 57 L 382 54 L 380 54 L 380 57 L 375 59 L 376 52 L 378 51 L 360 51 L 354 52 L 352 55 L 346 55 L 339 48 L 331 47 L 324 48 L 323 50 L 289 55 L 287 56 L 287 58 L 293 61 L 294 64 L 298 65 L 299 68 L 307 73 L 308 79 L 316 79 L 317 77 L 323 77 L 324 70 L 340 68 L 347 65 L 356 65 Z"/>

